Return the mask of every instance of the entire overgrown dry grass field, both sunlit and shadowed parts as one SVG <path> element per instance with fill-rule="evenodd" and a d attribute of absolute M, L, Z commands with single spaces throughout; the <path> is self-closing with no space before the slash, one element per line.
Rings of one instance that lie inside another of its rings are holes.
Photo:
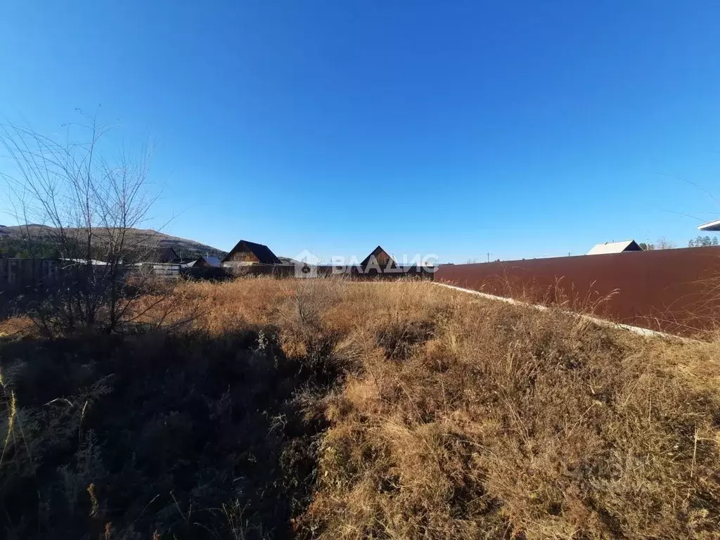
<path fill-rule="evenodd" d="M 720 536 L 717 341 L 427 282 L 184 283 L 143 322 L 1 323 L 5 538 Z"/>

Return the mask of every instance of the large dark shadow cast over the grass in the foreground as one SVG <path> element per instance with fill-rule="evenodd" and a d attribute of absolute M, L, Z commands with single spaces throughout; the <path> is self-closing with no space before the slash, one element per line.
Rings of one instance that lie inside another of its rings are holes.
<path fill-rule="evenodd" d="M 6 339 L 4 537 L 292 536 L 324 428 L 298 396 L 333 377 L 303 361 L 270 327 Z"/>

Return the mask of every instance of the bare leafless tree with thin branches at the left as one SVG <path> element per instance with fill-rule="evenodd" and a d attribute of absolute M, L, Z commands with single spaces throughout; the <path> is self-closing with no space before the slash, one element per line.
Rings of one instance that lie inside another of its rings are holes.
<path fill-rule="evenodd" d="M 156 200 L 148 189 L 150 152 L 108 158 L 110 128 L 83 114 L 84 140 L 58 142 L 17 125 L 0 125 L 0 143 L 14 162 L 4 173 L 25 240 L 52 243 L 63 267 L 32 315 L 45 333 L 116 330 L 131 315 L 132 266 L 153 248 L 133 230 Z M 31 225 L 32 224 L 32 225 Z M 42 226 L 37 226 L 42 225 Z M 36 238 L 33 238 L 36 237 Z M 101 261 L 101 262 L 98 262 Z M 58 286 L 59 285 L 59 286 Z"/>

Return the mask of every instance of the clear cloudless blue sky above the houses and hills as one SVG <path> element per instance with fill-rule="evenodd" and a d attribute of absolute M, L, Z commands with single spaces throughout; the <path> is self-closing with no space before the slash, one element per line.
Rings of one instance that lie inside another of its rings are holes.
<path fill-rule="evenodd" d="M 717 0 L 4 1 L 0 114 L 76 107 L 149 135 L 153 224 L 218 248 L 530 258 L 720 217 L 670 177 L 720 199 Z"/>

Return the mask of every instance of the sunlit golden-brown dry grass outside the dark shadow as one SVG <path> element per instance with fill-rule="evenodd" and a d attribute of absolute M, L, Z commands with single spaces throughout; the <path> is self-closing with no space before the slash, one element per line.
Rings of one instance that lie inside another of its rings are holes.
<path fill-rule="evenodd" d="M 297 402 L 327 429 L 298 536 L 720 536 L 719 341 L 427 282 L 240 279 L 171 301 L 217 338 L 276 328 L 312 370 Z"/>

